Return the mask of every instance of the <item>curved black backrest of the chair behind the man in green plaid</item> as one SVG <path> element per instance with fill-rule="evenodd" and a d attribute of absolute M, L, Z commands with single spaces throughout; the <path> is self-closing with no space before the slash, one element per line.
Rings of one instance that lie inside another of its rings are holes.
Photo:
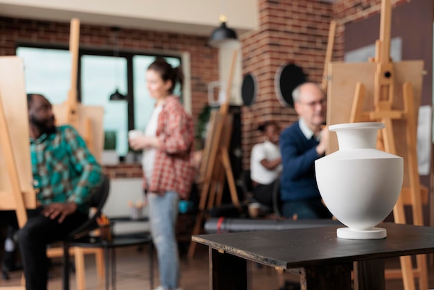
<path fill-rule="evenodd" d="M 83 225 L 80 225 L 80 227 L 76 228 L 76 230 L 73 230 L 69 234 L 69 239 L 78 239 L 79 237 L 83 237 L 92 230 L 98 228 L 98 223 L 96 222 L 96 219 L 101 216 L 101 210 L 103 210 L 105 202 L 107 201 L 109 191 L 110 179 L 107 176 L 104 176 L 103 183 L 98 188 L 98 190 L 94 194 L 92 194 L 89 200 L 89 205 L 91 207 L 94 207 L 95 209 L 94 214 L 88 221 L 83 223 Z"/>

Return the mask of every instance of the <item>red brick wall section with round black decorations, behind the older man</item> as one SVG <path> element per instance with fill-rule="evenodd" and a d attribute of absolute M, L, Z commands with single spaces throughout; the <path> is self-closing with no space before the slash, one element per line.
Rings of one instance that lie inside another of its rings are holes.
<path fill-rule="evenodd" d="M 263 121 L 275 120 L 286 128 L 297 120 L 293 108 L 277 99 L 275 74 L 294 63 L 311 81 L 320 83 L 324 68 L 331 3 L 312 0 L 259 0 L 259 31 L 243 35 L 243 74 L 257 78 L 258 95 L 250 108 L 243 108 L 243 167 L 249 167 L 250 151 L 261 142 L 255 130 Z"/>

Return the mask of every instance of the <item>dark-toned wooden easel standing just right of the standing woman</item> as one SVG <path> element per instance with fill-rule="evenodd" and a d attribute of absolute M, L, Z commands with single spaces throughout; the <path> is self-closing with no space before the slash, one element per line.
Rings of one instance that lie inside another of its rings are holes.
<path fill-rule="evenodd" d="M 236 51 L 234 51 L 232 56 L 225 103 L 220 105 L 220 110 L 218 112 L 211 112 L 209 121 L 210 130 L 207 135 L 205 149 L 202 155 L 202 162 L 200 164 L 199 174 L 200 182 L 202 183 L 202 190 L 200 194 L 199 212 L 198 216 L 196 216 L 196 222 L 192 234 L 200 234 L 202 221 L 205 217 L 205 210 L 210 210 L 214 205 L 219 206 L 221 204 L 225 180 L 227 180 L 229 185 L 232 203 L 238 208 L 238 210 L 241 210 L 241 205 L 236 193 L 229 154 L 227 153 L 232 133 L 232 116 L 228 113 L 235 62 Z M 191 241 L 188 254 L 190 259 L 193 258 L 195 250 L 196 242 Z"/>

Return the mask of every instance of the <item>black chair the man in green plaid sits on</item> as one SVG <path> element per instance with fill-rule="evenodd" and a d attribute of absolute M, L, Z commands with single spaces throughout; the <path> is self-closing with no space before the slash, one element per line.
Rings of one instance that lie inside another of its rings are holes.
<path fill-rule="evenodd" d="M 97 219 L 101 216 L 101 210 L 105 205 L 105 201 L 107 201 L 107 197 L 110 190 L 110 179 L 107 176 L 104 176 L 103 183 L 101 187 L 99 187 L 98 191 L 92 195 L 90 198 L 90 206 L 96 209 L 94 215 L 83 225 L 73 230 L 67 239 L 64 240 L 63 243 L 63 289 L 69 290 L 69 247 L 70 243 L 77 241 L 80 238 L 86 237 L 89 232 L 92 230 L 96 230 L 98 228 Z"/>

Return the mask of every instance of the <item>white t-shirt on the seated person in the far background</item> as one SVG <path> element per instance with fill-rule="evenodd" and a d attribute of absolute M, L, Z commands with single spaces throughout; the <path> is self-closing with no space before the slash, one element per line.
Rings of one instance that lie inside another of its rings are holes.
<path fill-rule="evenodd" d="M 252 180 L 261 185 L 269 185 L 275 181 L 281 173 L 282 165 L 279 164 L 275 169 L 268 170 L 263 167 L 261 160 L 272 161 L 280 156 L 279 146 L 272 144 L 270 141 L 254 145 L 250 155 L 250 177 Z"/>

